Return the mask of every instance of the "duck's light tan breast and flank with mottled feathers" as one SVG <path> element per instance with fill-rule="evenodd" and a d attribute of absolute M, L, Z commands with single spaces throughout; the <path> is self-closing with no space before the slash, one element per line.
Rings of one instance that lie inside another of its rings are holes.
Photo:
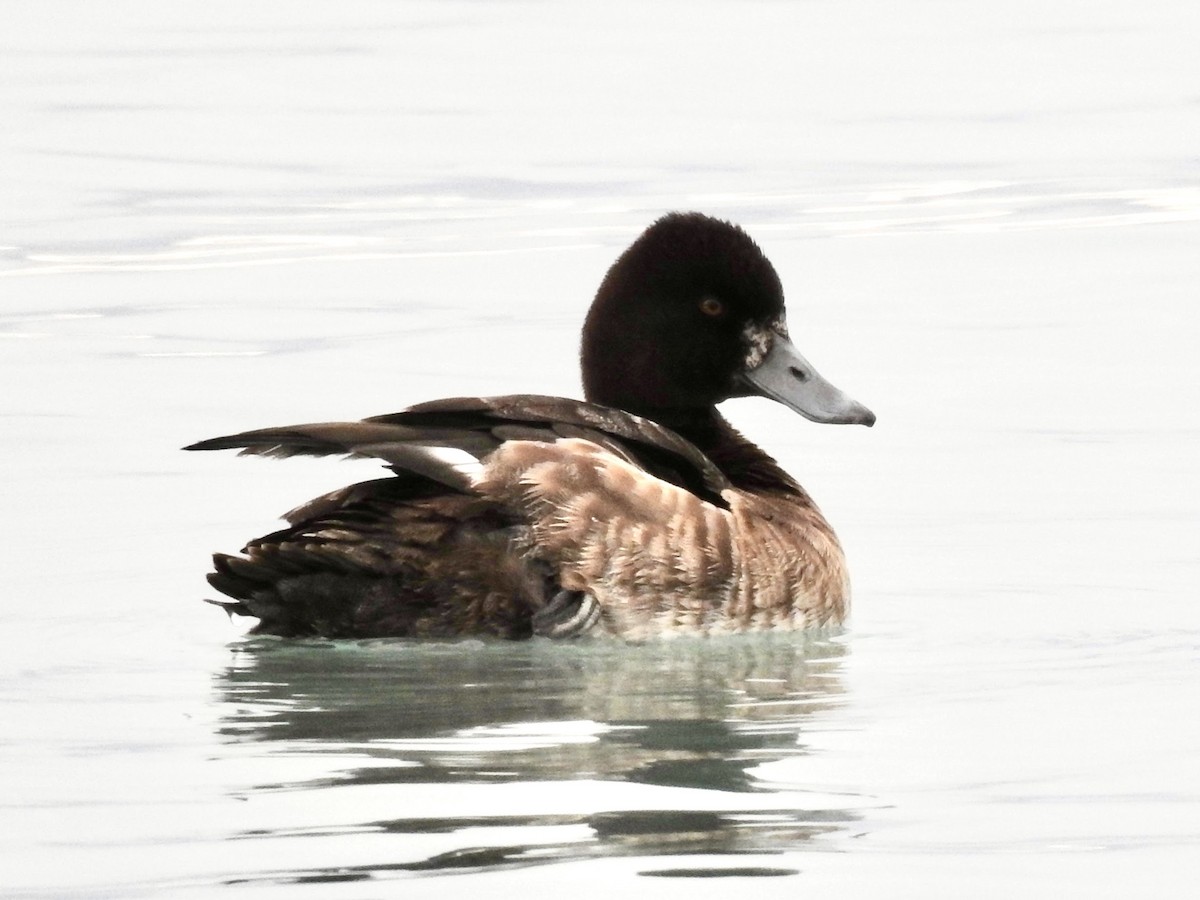
<path fill-rule="evenodd" d="M 841 620 L 841 548 L 803 493 L 724 492 L 730 509 L 581 439 L 509 442 L 476 488 L 529 523 L 527 551 L 641 640 Z"/>

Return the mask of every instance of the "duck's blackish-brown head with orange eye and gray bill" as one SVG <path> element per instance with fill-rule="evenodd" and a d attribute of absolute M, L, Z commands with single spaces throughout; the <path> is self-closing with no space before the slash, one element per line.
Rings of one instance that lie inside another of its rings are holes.
<path fill-rule="evenodd" d="M 664 216 L 613 263 L 581 355 L 588 400 L 664 422 L 755 394 L 814 421 L 875 421 L 792 346 L 784 288 L 758 245 L 698 212 Z"/>

